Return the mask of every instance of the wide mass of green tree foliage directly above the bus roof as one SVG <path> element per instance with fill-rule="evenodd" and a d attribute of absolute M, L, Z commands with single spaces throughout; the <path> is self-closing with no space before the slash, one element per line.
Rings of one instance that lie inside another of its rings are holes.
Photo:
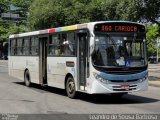
<path fill-rule="evenodd" d="M 142 18 L 157 23 L 159 6 L 159 0 L 35 0 L 29 9 L 29 22 L 32 29 Z"/>

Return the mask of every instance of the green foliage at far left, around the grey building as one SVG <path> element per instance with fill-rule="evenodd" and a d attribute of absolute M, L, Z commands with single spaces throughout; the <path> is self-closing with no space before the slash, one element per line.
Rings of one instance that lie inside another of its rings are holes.
<path fill-rule="evenodd" d="M 20 15 L 20 17 L 22 17 L 18 26 L 15 26 L 12 21 L 3 21 L 0 18 L 0 41 L 8 40 L 9 35 L 11 34 L 28 31 L 26 18 L 31 2 L 32 0 L 0 0 L 0 15 L 3 12 L 11 12 L 17 13 Z M 9 11 L 8 8 L 10 5 L 19 7 L 19 9 L 15 11 Z"/>

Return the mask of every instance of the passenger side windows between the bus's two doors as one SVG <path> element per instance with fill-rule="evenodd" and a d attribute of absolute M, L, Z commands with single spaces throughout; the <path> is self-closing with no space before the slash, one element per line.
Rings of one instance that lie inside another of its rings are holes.
<path fill-rule="evenodd" d="M 74 56 L 76 55 L 75 34 L 63 33 L 60 39 L 60 34 L 54 34 L 49 37 L 48 55 L 56 56 Z"/>

